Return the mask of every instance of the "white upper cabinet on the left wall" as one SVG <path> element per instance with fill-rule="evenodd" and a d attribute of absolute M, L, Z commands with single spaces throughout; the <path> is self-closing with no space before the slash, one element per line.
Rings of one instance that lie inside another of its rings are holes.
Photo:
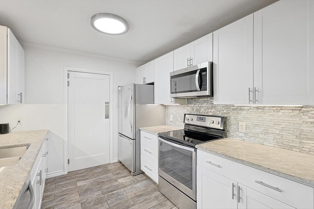
<path fill-rule="evenodd" d="M 0 26 L 0 104 L 25 99 L 25 52 L 12 31 Z"/>

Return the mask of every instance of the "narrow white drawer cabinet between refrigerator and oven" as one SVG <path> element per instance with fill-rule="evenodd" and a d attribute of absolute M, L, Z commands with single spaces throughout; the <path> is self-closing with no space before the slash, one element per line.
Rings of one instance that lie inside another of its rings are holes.
<path fill-rule="evenodd" d="M 141 170 L 158 184 L 158 139 L 154 134 L 140 131 Z"/>

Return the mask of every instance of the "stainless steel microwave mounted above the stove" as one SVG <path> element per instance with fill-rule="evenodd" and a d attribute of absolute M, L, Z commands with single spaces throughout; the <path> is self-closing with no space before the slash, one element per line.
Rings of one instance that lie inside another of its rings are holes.
<path fill-rule="evenodd" d="M 212 96 L 212 62 L 170 72 L 170 96 L 193 98 Z"/>

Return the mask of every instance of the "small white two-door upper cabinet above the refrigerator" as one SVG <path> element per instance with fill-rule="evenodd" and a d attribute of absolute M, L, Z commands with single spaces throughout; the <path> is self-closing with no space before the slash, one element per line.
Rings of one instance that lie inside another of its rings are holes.
<path fill-rule="evenodd" d="M 155 81 L 155 61 L 146 63 L 136 69 L 136 83 L 146 84 Z"/>

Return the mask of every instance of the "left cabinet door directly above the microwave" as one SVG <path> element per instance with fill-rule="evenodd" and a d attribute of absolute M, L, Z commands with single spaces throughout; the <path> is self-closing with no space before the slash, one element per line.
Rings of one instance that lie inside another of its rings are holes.
<path fill-rule="evenodd" d="M 173 51 L 173 70 L 181 70 L 189 65 L 191 58 L 191 46 L 187 44 Z"/>

